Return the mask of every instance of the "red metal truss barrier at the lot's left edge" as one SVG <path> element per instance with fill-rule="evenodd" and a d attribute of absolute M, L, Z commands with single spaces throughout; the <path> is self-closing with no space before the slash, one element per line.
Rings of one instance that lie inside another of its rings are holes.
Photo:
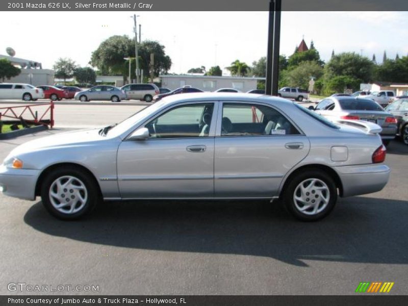
<path fill-rule="evenodd" d="M 35 108 L 38 106 L 44 106 L 44 105 L 47 105 L 48 107 L 46 108 L 46 110 L 44 111 L 40 119 L 38 119 L 37 111 L 33 112 L 32 108 Z M 22 109 L 22 111 L 19 113 L 20 109 Z M 42 120 L 46 120 L 44 117 L 48 112 L 49 112 L 49 123 L 42 121 Z M 24 118 L 22 116 L 24 113 L 29 116 L 31 115 L 30 117 L 32 117 L 32 119 Z M 35 124 L 49 125 L 49 127 L 53 127 L 54 126 L 54 102 L 50 101 L 50 103 L 44 103 L 44 104 L 1 107 L 0 108 L 0 120 L 2 120 L 3 117 L 11 118 L 11 119 L 18 119 L 18 120 L 22 118 L 24 121 L 28 123 L 31 122 Z"/>

